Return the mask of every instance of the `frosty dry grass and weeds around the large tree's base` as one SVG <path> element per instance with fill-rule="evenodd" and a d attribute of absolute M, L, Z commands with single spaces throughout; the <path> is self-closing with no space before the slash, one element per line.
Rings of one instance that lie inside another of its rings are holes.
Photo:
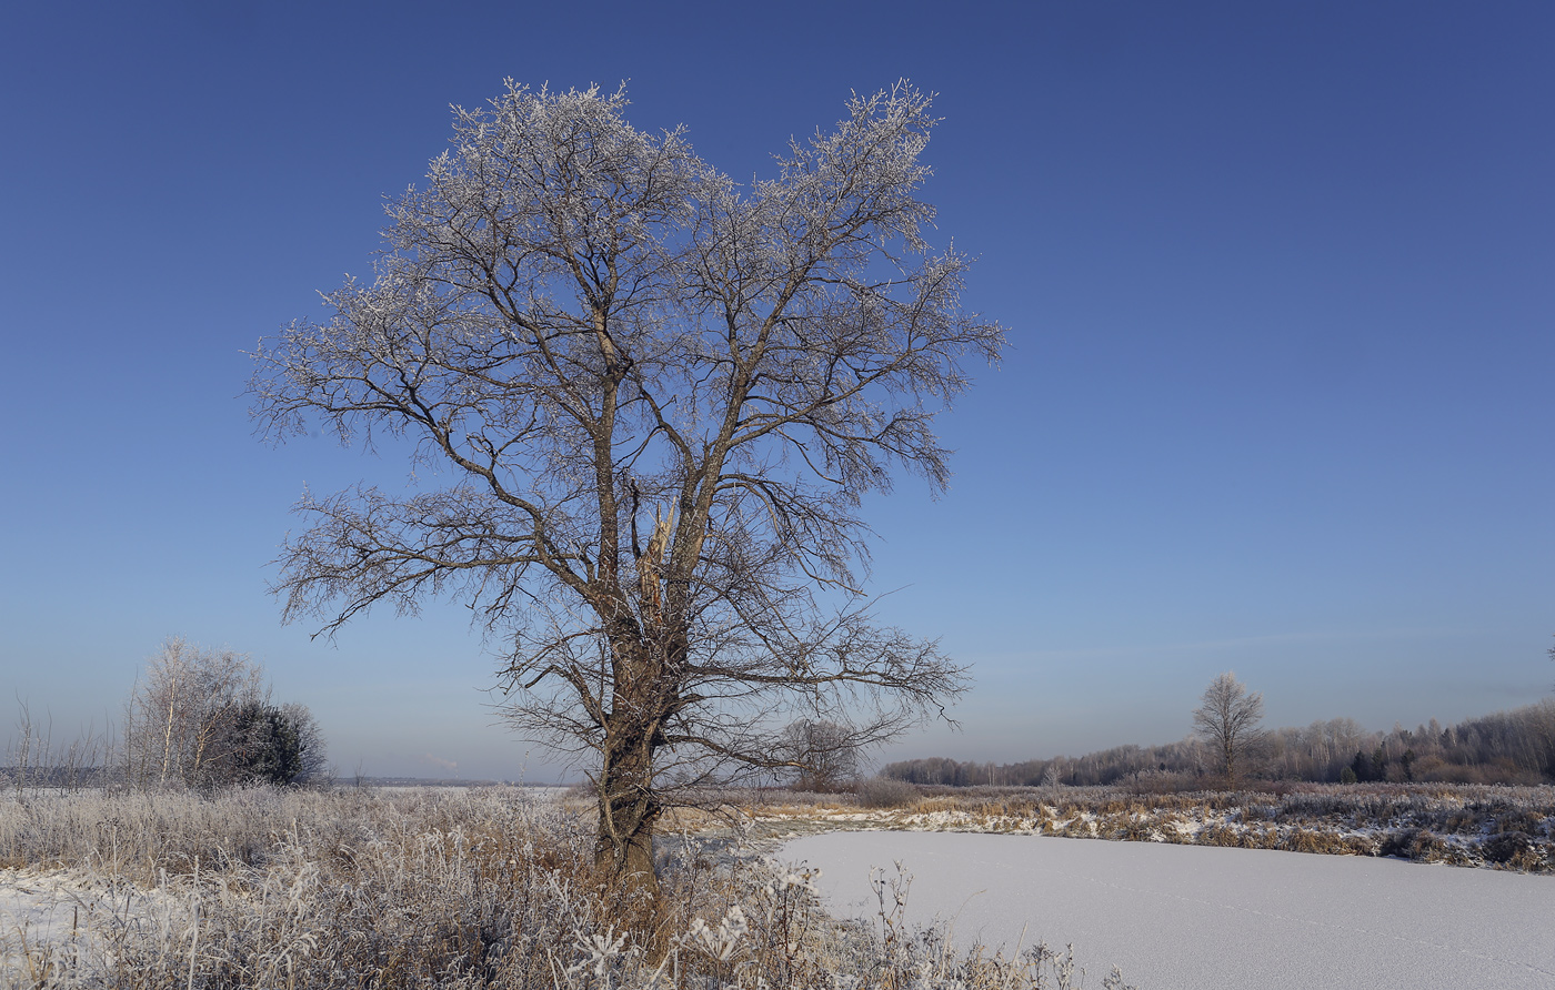
<path fill-rule="evenodd" d="M 872 929 L 841 925 L 810 875 L 692 838 L 666 842 L 661 901 L 633 901 L 594 872 L 588 814 L 571 804 L 507 788 L 9 800 L 0 859 L 78 883 L 68 934 L 0 932 L 0 985 L 1079 985 L 1047 948 L 959 954 L 905 931 L 905 887 L 882 881 Z M 697 821 L 712 819 L 681 824 Z"/>

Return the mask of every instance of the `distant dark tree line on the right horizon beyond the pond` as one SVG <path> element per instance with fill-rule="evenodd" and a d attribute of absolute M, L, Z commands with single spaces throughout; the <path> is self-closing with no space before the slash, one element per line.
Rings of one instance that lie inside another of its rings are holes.
<path fill-rule="evenodd" d="M 1555 699 L 1446 726 L 1370 732 L 1353 718 L 1263 734 L 1249 777 L 1309 782 L 1555 782 Z M 1113 746 L 1082 757 L 975 763 L 944 757 L 888 763 L 880 776 L 910 783 L 1113 785 L 1158 779 L 1191 783 L 1221 772 L 1214 749 L 1196 738 L 1163 746 Z"/>

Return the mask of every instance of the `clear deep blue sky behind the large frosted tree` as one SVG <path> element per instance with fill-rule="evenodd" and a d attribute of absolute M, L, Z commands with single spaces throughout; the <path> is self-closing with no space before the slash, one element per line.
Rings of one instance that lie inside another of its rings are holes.
<path fill-rule="evenodd" d="M 736 177 L 852 89 L 936 90 L 939 238 L 1012 328 L 947 497 L 868 507 L 886 619 L 972 664 L 882 758 L 1547 696 L 1555 6 L 14 5 L 0 31 L 0 704 L 117 712 L 173 633 L 250 651 L 350 771 L 549 780 L 457 606 L 334 645 L 266 594 L 308 485 L 244 350 L 367 274 L 384 194 L 502 79 L 628 81 Z M 0 726 L 6 720 L 0 718 Z"/>

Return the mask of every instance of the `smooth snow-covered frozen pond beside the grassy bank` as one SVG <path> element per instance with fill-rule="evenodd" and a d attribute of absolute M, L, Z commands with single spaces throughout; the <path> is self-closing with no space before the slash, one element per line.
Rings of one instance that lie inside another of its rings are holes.
<path fill-rule="evenodd" d="M 872 867 L 913 875 L 911 923 L 967 946 L 1075 945 L 1087 985 L 1141 990 L 1555 987 L 1555 877 L 1398 859 L 1051 836 L 833 831 L 781 858 L 833 914 L 874 917 Z"/>

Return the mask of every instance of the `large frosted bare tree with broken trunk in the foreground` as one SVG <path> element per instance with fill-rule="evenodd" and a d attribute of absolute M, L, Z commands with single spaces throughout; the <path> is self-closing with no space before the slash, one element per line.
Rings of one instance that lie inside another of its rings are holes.
<path fill-rule="evenodd" d="M 785 715 L 872 743 L 963 690 L 869 620 L 858 507 L 893 468 L 944 488 L 933 418 L 1003 329 L 924 239 L 927 95 L 855 96 L 748 186 L 625 107 L 510 81 L 456 109 L 376 278 L 261 342 L 250 390 L 272 438 L 386 434 L 451 474 L 305 497 L 286 619 L 474 608 L 515 724 L 592 771 L 600 863 L 653 889 L 676 785 L 791 765 Z"/>

